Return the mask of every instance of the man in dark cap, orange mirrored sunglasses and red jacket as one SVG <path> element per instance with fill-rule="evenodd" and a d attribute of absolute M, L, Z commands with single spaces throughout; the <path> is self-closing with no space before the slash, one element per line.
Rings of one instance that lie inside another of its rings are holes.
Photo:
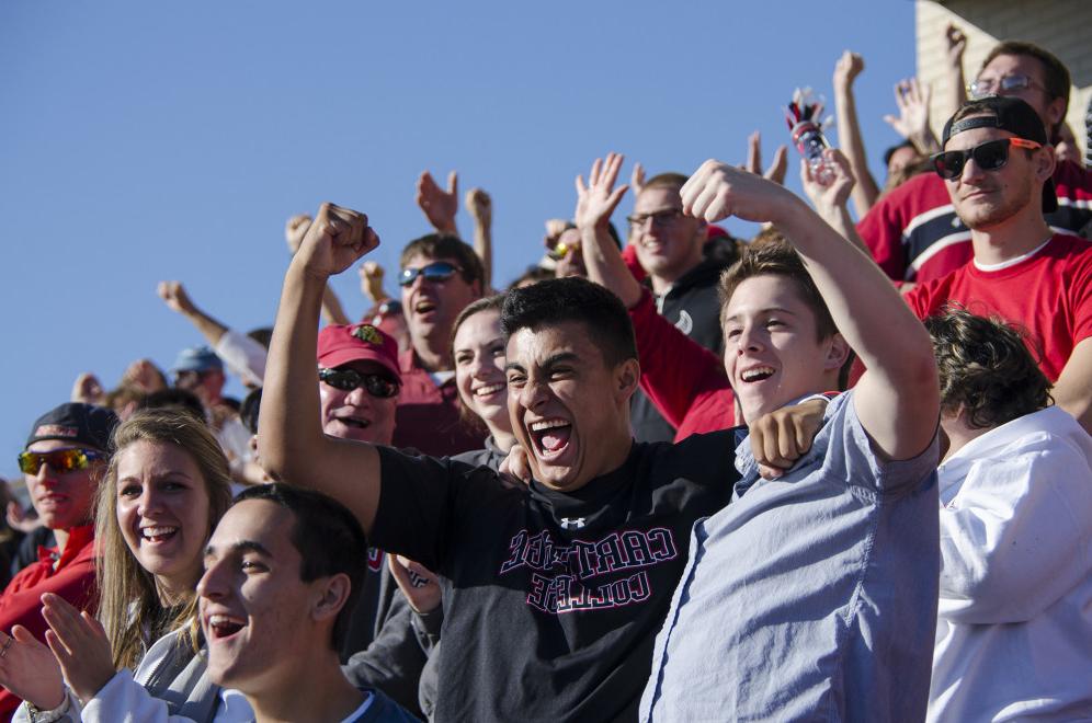
<path fill-rule="evenodd" d="M 31 502 L 53 530 L 57 547 L 39 548 L 38 561 L 15 575 L 0 595 L 0 630 L 22 626 L 44 641 L 42 595 L 52 593 L 77 608 L 94 595 L 94 525 L 91 521 L 99 480 L 110 461 L 110 436 L 117 416 L 110 410 L 69 402 L 43 414 L 31 427 L 19 455 Z M 0 645 L 8 653 L 11 639 Z M 0 721 L 8 721 L 20 700 L 0 688 Z"/>

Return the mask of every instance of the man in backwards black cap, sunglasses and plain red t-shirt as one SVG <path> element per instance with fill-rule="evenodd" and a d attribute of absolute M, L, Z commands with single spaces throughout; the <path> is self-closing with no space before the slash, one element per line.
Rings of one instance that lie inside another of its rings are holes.
<path fill-rule="evenodd" d="M 915 287 L 920 319 L 955 301 L 1025 328 L 1054 398 L 1092 429 L 1092 246 L 1058 233 L 1056 159 L 1035 110 L 1015 97 L 964 104 L 945 124 L 936 175 L 970 229 L 974 260 Z"/>

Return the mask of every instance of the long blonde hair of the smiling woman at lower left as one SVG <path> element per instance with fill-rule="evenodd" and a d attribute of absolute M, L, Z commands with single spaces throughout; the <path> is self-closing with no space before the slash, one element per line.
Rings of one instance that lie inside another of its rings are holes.
<path fill-rule="evenodd" d="M 117 460 L 126 447 L 137 441 L 174 445 L 196 463 L 208 493 L 206 535 L 212 535 L 231 504 L 227 458 L 208 427 L 192 414 L 170 409 L 143 410 L 114 432 L 113 458 L 99 486 L 94 525 L 99 619 L 106 629 L 117 668 L 132 668 L 139 663 L 148 631 L 184 626 L 180 634 L 194 652 L 200 647 L 196 595 L 189 595 L 173 611 L 164 610 L 155 577 L 133 556 L 117 525 Z M 196 585 L 197 581 L 193 582 Z"/>

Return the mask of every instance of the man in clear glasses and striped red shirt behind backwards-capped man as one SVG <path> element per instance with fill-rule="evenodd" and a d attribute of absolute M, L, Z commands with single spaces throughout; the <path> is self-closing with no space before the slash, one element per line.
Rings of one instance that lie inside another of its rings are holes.
<path fill-rule="evenodd" d="M 1069 70 L 1053 54 L 1019 41 L 1005 41 L 986 57 L 969 83 L 972 99 L 1016 97 L 1027 103 L 1057 142 L 1069 107 Z M 1060 204 L 1046 210 L 1056 230 L 1076 233 L 1092 220 L 1092 176 L 1072 161 L 1055 167 L 1054 191 Z M 940 278 L 971 256 L 971 230 L 952 207 L 944 182 L 918 175 L 881 197 L 857 225 L 876 263 L 896 282 Z M 1087 233 L 1087 231 L 1085 231 Z"/>

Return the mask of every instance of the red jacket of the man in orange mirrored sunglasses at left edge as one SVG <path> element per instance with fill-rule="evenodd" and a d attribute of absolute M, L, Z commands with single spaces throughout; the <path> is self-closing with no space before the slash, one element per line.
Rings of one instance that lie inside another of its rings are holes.
<path fill-rule="evenodd" d="M 38 548 L 38 561 L 11 578 L 0 595 L 0 630 L 11 633 L 20 624 L 43 643 L 49 628 L 42 618 L 42 595 L 53 593 L 80 610 L 93 607 L 94 526 L 73 527 L 59 559 L 56 548 Z M 56 562 L 56 566 L 54 563 Z M 0 720 L 10 721 L 20 699 L 0 688 Z"/>

